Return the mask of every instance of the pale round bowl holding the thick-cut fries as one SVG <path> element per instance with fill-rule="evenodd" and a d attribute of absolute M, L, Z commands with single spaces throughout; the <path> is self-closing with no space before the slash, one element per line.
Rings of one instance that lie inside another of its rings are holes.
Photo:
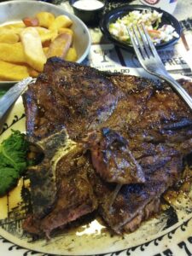
<path fill-rule="evenodd" d="M 73 20 L 73 26 L 71 28 L 74 32 L 73 45 L 78 54 L 78 60 L 76 62 L 80 63 L 84 61 L 84 58 L 90 51 L 90 32 L 82 20 L 77 16 L 68 13 L 62 7 L 40 1 L 2 2 L 0 3 L 0 26 L 6 22 L 22 20 L 25 17 L 32 17 L 40 11 L 48 11 L 55 16 L 67 15 Z M 15 83 L 15 81 L 0 81 L 0 86 L 3 84 L 12 85 Z"/>

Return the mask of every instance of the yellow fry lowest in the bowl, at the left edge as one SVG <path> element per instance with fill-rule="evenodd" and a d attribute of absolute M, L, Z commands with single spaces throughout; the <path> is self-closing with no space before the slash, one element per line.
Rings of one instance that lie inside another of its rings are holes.
<path fill-rule="evenodd" d="M 28 69 L 25 66 L 15 65 L 13 63 L 0 61 L 0 79 L 3 81 L 19 81 L 29 76 Z"/>

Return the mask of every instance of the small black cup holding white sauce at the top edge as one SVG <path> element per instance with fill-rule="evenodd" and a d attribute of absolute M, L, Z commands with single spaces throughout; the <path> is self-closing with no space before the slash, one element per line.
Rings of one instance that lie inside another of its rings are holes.
<path fill-rule="evenodd" d="M 79 19 L 83 20 L 85 24 L 87 25 L 98 25 L 99 20 L 101 20 L 102 17 L 102 11 L 105 7 L 105 3 L 102 0 L 98 0 L 99 2 L 103 3 L 103 6 L 99 9 L 79 9 L 73 4 L 79 0 L 70 0 L 69 3 L 73 7 L 74 14 L 79 17 Z"/>

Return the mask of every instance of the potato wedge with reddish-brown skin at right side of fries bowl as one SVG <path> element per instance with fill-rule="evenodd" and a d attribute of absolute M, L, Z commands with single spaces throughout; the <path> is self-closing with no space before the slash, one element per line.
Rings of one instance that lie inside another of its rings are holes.
<path fill-rule="evenodd" d="M 72 44 L 72 35 L 62 33 L 58 35 L 53 42 L 49 45 L 47 57 L 61 57 L 67 55 L 67 51 Z"/>

